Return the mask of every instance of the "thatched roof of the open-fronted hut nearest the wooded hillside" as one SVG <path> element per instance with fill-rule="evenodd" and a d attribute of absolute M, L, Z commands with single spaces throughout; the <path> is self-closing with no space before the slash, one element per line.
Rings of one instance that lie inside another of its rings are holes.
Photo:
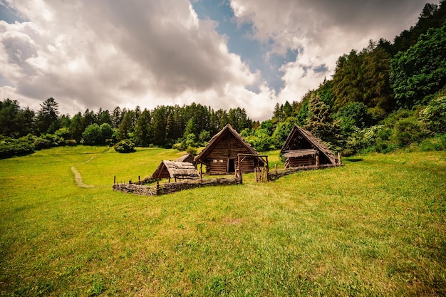
<path fill-rule="evenodd" d="M 310 147 L 299 147 L 299 143 L 301 142 L 301 138 L 304 138 Z M 302 129 L 298 125 L 294 125 L 293 130 L 288 135 L 288 138 L 286 138 L 285 144 L 281 149 L 282 155 L 287 157 L 304 157 L 308 155 L 309 149 L 318 150 L 323 155 L 327 157 L 327 159 L 332 163 L 336 164 L 336 156 L 331 152 L 331 150 L 328 150 L 328 147 L 324 145 L 321 140 L 318 140 L 316 137 L 314 137 L 311 132 L 308 132 L 307 130 Z M 305 155 L 299 155 L 299 151 L 302 151 L 302 154 Z"/>

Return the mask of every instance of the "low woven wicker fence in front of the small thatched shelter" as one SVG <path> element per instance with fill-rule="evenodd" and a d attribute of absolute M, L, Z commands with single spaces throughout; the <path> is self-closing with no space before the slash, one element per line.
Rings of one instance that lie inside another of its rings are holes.
<path fill-rule="evenodd" d="M 240 180 L 236 178 L 217 178 L 217 179 L 202 179 L 190 182 L 168 182 L 165 184 L 156 183 L 150 186 L 144 186 L 141 184 L 113 184 L 113 191 L 120 191 L 125 193 L 132 193 L 138 195 L 162 195 L 171 194 L 183 189 L 195 189 L 198 187 L 212 187 L 223 186 L 230 184 L 240 184 Z"/>

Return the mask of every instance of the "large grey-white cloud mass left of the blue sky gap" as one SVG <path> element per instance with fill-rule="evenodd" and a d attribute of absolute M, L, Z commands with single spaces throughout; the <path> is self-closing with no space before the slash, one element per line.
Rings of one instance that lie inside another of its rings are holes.
<path fill-rule="evenodd" d="M 22 0 L 14 8 L 28 21 L 0 24 L 4 98 L 38 109 L 53 97 L 71 115 L 192 101 L 249 109 L 234 90 L 246 93 L 259 73 L 187 0 Z"/>

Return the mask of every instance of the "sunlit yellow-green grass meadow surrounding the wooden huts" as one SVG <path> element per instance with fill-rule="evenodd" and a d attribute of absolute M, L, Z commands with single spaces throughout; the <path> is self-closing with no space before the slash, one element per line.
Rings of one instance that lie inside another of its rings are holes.
<path fill-rule="evenodd" d="M 180 155 L 79 146 L 0 160 L 0 296 L 445 296 L 446 152 L 112 191 L 114 175 Z M 98 187 L 76 186 L 72 166 Z"/>

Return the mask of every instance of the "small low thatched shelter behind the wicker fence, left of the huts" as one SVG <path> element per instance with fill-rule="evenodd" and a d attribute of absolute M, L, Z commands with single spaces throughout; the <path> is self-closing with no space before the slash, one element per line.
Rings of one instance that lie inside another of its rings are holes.
<path fill-rule="evenodd" d="M 155 172 L 152 174 L 152 179 L 171 178 L 175 179 L 199 179 L 197 169 L 189 162 L 176 162 L 162 160 Z"/>

